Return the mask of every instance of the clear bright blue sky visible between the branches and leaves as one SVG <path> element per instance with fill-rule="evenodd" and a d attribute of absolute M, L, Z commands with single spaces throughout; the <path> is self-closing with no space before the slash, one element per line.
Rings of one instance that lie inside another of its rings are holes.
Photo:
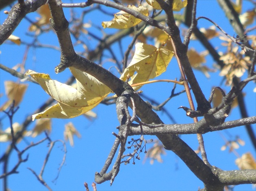
<path fill-rule="evenodd" d="M 64 1 L 69 2 L 69 1 Z M 78 1 L 73 1 L 78 2 Z M 80 1 L 79 1 L 80 2 Z M 255 1 L 254 1 L 255 2 Z M 252 4 L 249 1 L 243 1 L 243 11 L 245 12 L 248 8 L 252 8 Z M 81 11 L 88 8 L 75 8 L 76 14 L 80 14 Z M 5 8 L 4 10 L 9 10 L 9 8 Z M 70 9 L 64 8 L 65 15 L 67 20 L 70 18 Z M 117 13 L 118 11 L 113 8 L 109 8 L 109 13 Z M 223 28 L 230 36 L 236 36 L 234 30 L 231 28 L 228 19 L 225 17 L 223 11 L 219 8 L 217 1 L 214 0 L 199 0 L 197 3 L 197 17 L 205 16 L 213 21 L 215 21 L 218 25 Z M 7 15 L 3 14 L 3 10 L 0 13 L 0 21 L 3 23 L 4 19 Z M 28 18 L 35 21 L 35 17 L 39 17 L 37 13 L 30 13 L 27 15 Z M 102 15 L 99 11 L 93 11 L 86 15 L 85 23 L 91 22 L 94 25 L 101 25 L 102 21 L 110 21 L 113 17 Z M 208 28 L 212 23 L 200 19 L 198 22 L 198 26 Z M 19 36 L 22 42 L 32 43 L 33 35 L 30 36 L 30 32 L 28 32 L 28 27 L 30 23 L 23 19 L 20 25 L 13 32 L 15 36 Z M 185 28 L 181 25 L 182 28 Z M 90 28 L 91 32 L 95 35 L 102 37 L 102 33 L 95 29 Z M 105 29 L 106 33 L 112 32 L 115 30 Z M 122 41 L 124 45 L 124 51 L 127 46 L 130 44 L 132 37 L 126 37 L 125 40 Z M 85 41 L 88 42 L 89 49 L 93 49 L 97 46 L 98 42 L 89 38 L 89 36 L 85 35 Z M 53 31 L 45 33 L 39 36 L 39 42 L 47 45 L 59 46 L 56 35 Z M 214 47 L 219 48 L 218 51 L 226 51 L 226 48 L 221 47 L 218 38 L 214 38 L 210 41 Z M 154 43 L 152 42 L 152 45 Z M 119 51 L 117 43 L 115 44 L 117 51 Z M 204 47 L 197 42 L 191 41 L 190 47 L 194 47 L 197 52 L 204 51 Z M 11 43 L 4 43 L 1 47 L 1 64 L 12 68 L 18 63 L 22 62 L 25 45 L 13 45 Z M 76 47 L 76 51 L 81 51 L 82 47 Z M 106 57 L 109 56 L 109 53 L 105 53 Z M 118 54 L 117 54 L 118 55 Z M 118 58 L 121 59 L 121 56 Z M 69 70 L 65 70 L 59 74 L 54 73 L 54 67 L 59 64 L 60 61 L 60 53 L 59 51 L 53 49 L 46 48 L 30 48 L 28 53 L 28 58 L 26 60 L 26 69 L 35 70 L 40 73 L 50 74 L 52 79 L 56 79 L 62 83 L 65 83 L 69 76 L 71 75 Z M 206 66 L 209 68 L 213 68 L 213 59 L 211 56 L 206 56 Z M 109 69 L 112 66 L 112 63 L 106 61 L 103 67 Z M 110 70 L 116 75 L 116 70 L 112 68 Z M 0 70 L 0 93 L 4 93 L 4 81 L 12 80 L 17 81 L 17 78 L 11 76 L 11 74 Z M 202 87 L 202 91 L 204 92 L 206 98 L 208 99 L 210 95 L 210 91 L 214 86 L 220 86 L 225 89 L 226 92 L 230 90 L 230 87 L 227 87 L 222 83 L 222 78 L 219 77 L 218 72 L 210 73 L 210 78 L 207 79 L 202 72 L 195 71 L 195 75 L 197 80 L 199 81 L 200 86 Z M 118 76 L 119 77 L 119 76 Z M 246 75 L 242 77 L 244 79 Z M 167 72 L 159 76 L 157 79 L 175 79 L 180 78 L 180 72 L 178 70 L 178 65 L 176 59 L 172 59 Z M 20 104 L 20 109 L 14 116 L 14 122 L 22 123 L 28 115 L 33 115 L 33 112 L 43 104 L 50 96 L 43 91 L 43 89 L 36 84 L 30 82 L 24 82 L 29 84 L 28 89 L 25 93 L 24 100 Z M 250 82 L 244 89 L 246 92 L 245 104 L 247 107 L 249 117 L 255 116 L 256 114 L 256 103 L 255 103 L 255 93 L 253 89 L 255 84 Z M 166 100 L 173 88 L 173 84 L 171 83 L 157 83 L 144 85 L 141 90 L 147 96 L 154 98 L 159 103 Z M 183 87 L 177 85 L 176 92 L 182 91 Z M 7 100 L 7 97 L 4 95 L 1 97 L 0 104 L 2 105 Z M 165 106 L 166 109 L 169 110 L 170 114 L 177 123 L 193 123 L 193 119 L 186 116 L 184 110 L 178 110 L 177 108 L 180 106 L 189 106 L 187 101 L 187 96 L 185 94 L 181 94 L 178 97 L 171 99 Z M 54 151 L 50 155 L 50 159 L 45 168 L 45 172 L 43 175 L 46 183 L 53 190 L 85 190 L 83 185 L 84 182 L 89 184 L 89 188 L 92 190 L 90 186 L 92 182 L 94 182 L 94 174 L 95 172 L 100 172 L 103 167 L 106 158 L 108 156 L 109 151 L 113 145 L 115 137 L 111 134 L 112 132 L 117 133 L 116 127 L 119 125 L 117 121 L 117 116 L 115 112 L 115 105 L 103 105 L 100 104 L 96 108 L 93 109 L 95 113 L 97 113 L 97 118 L 93 121 L 89 121 L 83 116 L 76 117 L 74 119 L 53 119 L 52 120 L 52 133 L 50 134 L 50 138 L 52 140 L 63 140 L 63 131 L 64 125 L 68 122 L 72 122 L 78 132 L 81 134 L 81 138 L 74 138 L 74 147 L 70 146 L 69 142 L 67 145 L 67 156 L 65 160 L 65 165 L 63 166 L 59 178 L 52 183 L 52 180 L 56 178 L 58 174 L 58 168 L 63 158 L 63 146 L 60 143 L 56 143 L 54 146 Z M 169 117 L 162 111 L 158 111 L 157 114 L 161 117 L 162 121 L 166 124 L 171 124 L 172 121 Z M 6 129 L 10 126 L 7 117 L 3 112 L 0 113 L 1 117 L 1 128 Z M 234 108 L 226 119 L 226 121 L 232 121 L 240 118 L 240 113 L 238 108 Z M 35 126 L 35 122 L 29 125 L 28 129 L 33 129 Z M 253 125 L 255 132 L 255 124 Z M 237 158 L 234 153 L 229 153 L 228 150 L 221 151 L 221 146 L 225 144 L 225 137 L 227 140 L 234 140 L 236 136 L 239 136 L 242 140 L 245 141 L 245 146 L 240 146 L 237 149 L 237 153 L 241 156 L 246 152 L 251 152 L 255 157 L 255 150 L 253 148 L 252 143 L 249 141 L 249 137 L 245 131 L 245 127 L 236 127 L 233 129 L 225 130 L 222 132 L 211 132 L 203 135 L 206 153 L 208 156 L 208 160 L 211 165 L 217 166 L 222 170 L 238 170 L 238 167 L 235 165 L 235 159 Z M 36 138 L 26 138 L 26 142 L 22 141 L 18 144 L 19 149 L 24 149 L 27 146 L 27 142 L 37 142 L 45 137 L 44 134 L 39 135 Z M 136 136 L 134 138 L 137 138 Z M 156 138 L 155 136 L 145 136 L 146 140 L 151 138 Z M 196 135 L 182 135 L 182 140 L 184 140 L 192 149 L 196 150 L 198 147 L 197 137 Z M 129 140 L 129 138 L 128 138 Z M 0 155 L 4 153 L 7 145 L 9 143 L 0 144 Z M 147 148 L 149 149 L 153 144 L 147 144 Z M 47 190 L 46 187 L 41 185 L 36 177 L 27 169 L 32 168 L 39 174 L 41 167 L 43 165 L 43 161 L 46 157 L 46 153 L 48 152 L 48 144 L 44 142 L 38 146 L 35 146 L 26 154 L 29 154 L 28 161 L 26 163 L 22 163 L 18 168 L 19 173 L 13 174 L 9 176 L 9 188 L 12 191 L 18 190 Z M 129 153 L 126 149 L 125 153 Z M 26 156 L 24 155 L 24 157 Z M 163 163 L 154 162 L 153 165 L 150 164 L 149 160 L 146 160 L 143 163 L 144 154 L 141 153 L 141 160 L 135 161 L 135 165 L 132 163 L 128 165 L 122 164 L 120 167 L 120 172 L 115 178 L 113 185 L 110 187 L 110 182 L 107 181 L 100 185 L 97 185 L 97 189 L 99 191 L 104 190 L 197 190 L 198 188 L 203 188 L 203 183 L 187 168 L 187 166 L 183 163 L 181 159 L 179 159 L 174 153 L 171 151 L 166 151 L 166 155 L 162 156 Z M 17 163 L 17 154 L 15 152 L 11 155 L 11 160 L 9 163 L 9 169 L 13 167 L 13 165 Z M 0 174 L 2 174 L 2 164 L 0 164 Z M 2 181 L 2 180 L 1 180 Z M 2 190 L 2 182 L 1 188 Z M 239 190 L 255 190 L 255 187 L 252 185 L 239 185 L 234 187 L 234 191 Z"/>

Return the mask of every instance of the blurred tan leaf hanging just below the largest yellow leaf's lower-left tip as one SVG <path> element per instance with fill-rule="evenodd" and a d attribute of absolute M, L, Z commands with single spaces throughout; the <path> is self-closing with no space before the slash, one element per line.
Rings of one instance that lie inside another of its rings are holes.
<path fill-rule="evenodd" d="M 52 130 L 52 123 L 50 119 L 39 119 L 36 122 L 34 129 L 32 130 L 32 137 L 36 137 L 41 134 L 43 131 L 50 133 Z"/>

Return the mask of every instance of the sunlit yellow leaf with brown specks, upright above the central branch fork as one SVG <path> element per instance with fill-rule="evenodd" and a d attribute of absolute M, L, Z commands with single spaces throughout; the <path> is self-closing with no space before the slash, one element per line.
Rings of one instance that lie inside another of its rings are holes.
<path fill-rule="evenodd" d="M 174 52 L 138 42 L 135 45 L 135 55 L 129 66 L 124 70 L 120 79 L 125 81 L 130 74 L 129 84 L 136 84 L 149 81 L 166 71 L 166 68 L 173 57 Z M 138 90 L 140 86 L 133 87 Z"/>

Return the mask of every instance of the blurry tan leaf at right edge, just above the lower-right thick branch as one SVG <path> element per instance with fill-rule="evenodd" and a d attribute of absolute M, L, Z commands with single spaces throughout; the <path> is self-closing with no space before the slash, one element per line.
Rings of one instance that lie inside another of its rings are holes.
<path fill-rule="evenodd" d="M 256 161 L 251 153 L 245 153 L 241 158 L 236 159 L 236 165 L 241 169 L 256 169 Z"/>

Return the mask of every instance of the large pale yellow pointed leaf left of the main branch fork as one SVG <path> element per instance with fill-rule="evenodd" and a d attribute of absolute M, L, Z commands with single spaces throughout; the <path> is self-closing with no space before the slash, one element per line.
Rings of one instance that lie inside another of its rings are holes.
<path fill-rule="evenodd" d="M 77 88 L 50 79 L 48 74 L 28 70 L 26 75 L 35 79 L 58 103 L 32 116 L 32 119 L 67 119 L 82 115 L 97 106 L 111 90 L 93 76 L 75 68 L 69 68 L 76 78 Z"/>

